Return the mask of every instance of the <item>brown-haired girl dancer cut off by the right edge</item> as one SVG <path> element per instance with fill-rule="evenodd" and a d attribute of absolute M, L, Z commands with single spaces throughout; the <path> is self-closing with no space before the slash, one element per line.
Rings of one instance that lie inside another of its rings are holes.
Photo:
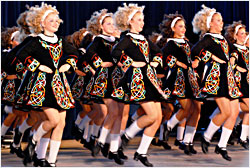
<path fill-rule="evenodd" d="M 234 44 L 236 50 L 231 53 L 230 62 L 234 69 L 235 81 L 238 84 L 240 91 L 243 93 L 241 100 L 246 107 L 244 112 L 249 113 L 249 50 L 244 45 L 246 40 L 246 27 L 240 21 L 234 22 L 225 27 L 225 37 Z M 244 108 L 243 108 L 244 109 Z M 239 143 L 248 149 L 247 134 L 249 132 L 249 115 L 244 115 L 242 121 L 241 136 Z"/>

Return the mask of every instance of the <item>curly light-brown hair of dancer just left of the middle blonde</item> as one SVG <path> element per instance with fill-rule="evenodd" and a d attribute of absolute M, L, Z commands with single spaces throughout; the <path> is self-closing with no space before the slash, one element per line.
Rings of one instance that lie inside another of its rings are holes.
<path fill-rule="evenodd" d="M 87 21 L 87 30 L 97 36 L 102 33 L 101 25 L 106 17 L 113 17 L 112 13 L 107 13 L 107 9 L 102 9 L 99 12 L 95 11 L 91 18 Z M 101 23 L 102 22 L 102 23 Z"/>

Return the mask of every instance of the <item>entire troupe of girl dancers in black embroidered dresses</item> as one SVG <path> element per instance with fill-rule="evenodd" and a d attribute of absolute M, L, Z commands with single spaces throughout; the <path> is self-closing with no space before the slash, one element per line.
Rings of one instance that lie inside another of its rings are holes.
<path fill-rule="evenodd" d="M 214 133 L 222 126 L 215 153 L 228 161 L 226 146 L 241 107 L 239 143 L 248 149 L 249 70 L 246 27 L 240 21 L 225 27 L 216 9 L 202 6 L 192 21 L 200 40 L 185 37 L 181 14 L 164 15 L 160 34 L 146 38 L 144 6 L 123 4 L 117 11 L 96 11 L 83 28 L 62 38 L 55 33 L 62 20 L 56 7 L 42 3 L 20 14 L 18 28 L 2 32 L 2 103 L 9 113 L 2 134 L 18 118 L 11 153 L 24 165 L 56 166 L 65 127 L 66 110 L 79 112 L 72 134 L 91 150 L 123 165 L 129 141 L 143 130 L 134 160 L 153 166 L 148 148 L 160 128 L 158 145 L 171 149 L 167 140 L 179 124 L 175 144 L 187 155 L 196 154 L 193 139 L 201 105 L 213 99 L 219 110 L 201 138 L 208 152 Z M 3 41 L 3 40 L 2 40 Z M 247 47 L 246 47 L 247 46 Z M 74 74 L 72 82 L 68 82 Z M 173 104 L 180 108 L 173 114 Z M 130 104 L 140 105 L 126 128 Z M 28 114 L 28 117 L 27 117 Z M 6 124 L 7 123 L 7 124 Z M 32 127 L 25 150 L 24 132 Z M 48 159 L 46 151 L 50 143 Z"/>

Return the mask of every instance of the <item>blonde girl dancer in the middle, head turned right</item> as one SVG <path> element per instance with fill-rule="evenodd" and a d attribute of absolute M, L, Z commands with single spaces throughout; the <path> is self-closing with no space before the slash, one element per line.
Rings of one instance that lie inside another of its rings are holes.
<path fill-rule="evenodd" d="M 160 98 L 165 94 L 160 89 L 154 68 L 162 65 L 160 49 L 143 35 L 139 34 L 144 26 L 144 6 L 124 4 L 115 13 L 117 27 L 121 31 L 129 30 L 116 45 L 112 56 L 119 62 L 125 55 L 132 65 L 124 74 L 112 96 L 118 101 L 139 102 L 145 115 L 136 120 L 122 135 L 122 146 L 125 147 L 131 138 L 141 131 L 144 134 L 134 160 L 140 160 L 145 166 L 153 166 L 147 159 L 147 150 L 160 126 L 162 111 Z"/>

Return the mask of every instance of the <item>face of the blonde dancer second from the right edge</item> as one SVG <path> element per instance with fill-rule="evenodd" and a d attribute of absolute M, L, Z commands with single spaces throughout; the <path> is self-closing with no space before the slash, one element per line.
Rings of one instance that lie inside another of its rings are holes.
<path fill-rule="evenodd" d="M 223 24 L 222 16 L 219 13 L 215 13 L 210 23 L 210 31 L 213 33 L 221 33 Z"/>

